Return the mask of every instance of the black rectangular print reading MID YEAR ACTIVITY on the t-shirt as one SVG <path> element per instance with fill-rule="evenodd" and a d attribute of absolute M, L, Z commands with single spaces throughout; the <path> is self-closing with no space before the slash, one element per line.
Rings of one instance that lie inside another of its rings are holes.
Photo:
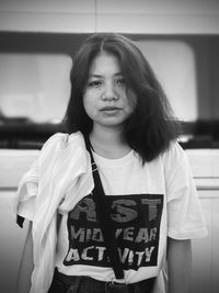
<path fill-rule="evenodd" d="M 138 270 L 157 266 L 163 196 L 129 194 L 106 199 L 123 268 Z M 67 225 L 69 250 L 65 266 L 110 267 L 92 195 L 81 200 L 69 213 Z"/>

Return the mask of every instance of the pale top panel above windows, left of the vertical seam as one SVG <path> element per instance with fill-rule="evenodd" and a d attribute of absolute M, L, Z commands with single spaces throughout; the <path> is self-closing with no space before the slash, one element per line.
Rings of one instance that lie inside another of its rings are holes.
<path fill-rule="evenodd" d="M 95 31 L 95 0 L 7 0 L 0 2 L 0 30 L 90 33 Z"/>

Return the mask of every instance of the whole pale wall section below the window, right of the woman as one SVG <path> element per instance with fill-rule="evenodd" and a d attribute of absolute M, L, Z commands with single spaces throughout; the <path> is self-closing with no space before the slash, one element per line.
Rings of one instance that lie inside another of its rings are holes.
<path fill-rule="evenodd" d="M 219 290 L 219 150 L 186 150 L 208 227 L 208 236 L 193 240 L 192 290 L 217 293 Z"/>

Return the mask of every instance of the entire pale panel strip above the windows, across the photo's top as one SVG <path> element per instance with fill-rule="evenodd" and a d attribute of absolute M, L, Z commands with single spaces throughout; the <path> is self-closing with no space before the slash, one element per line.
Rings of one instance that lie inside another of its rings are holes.
<path fill-rule="evenodd" d="M 120 32 L 218 34 L 216 0 L 8 0 L 0 30 L 24 32 Z"/>

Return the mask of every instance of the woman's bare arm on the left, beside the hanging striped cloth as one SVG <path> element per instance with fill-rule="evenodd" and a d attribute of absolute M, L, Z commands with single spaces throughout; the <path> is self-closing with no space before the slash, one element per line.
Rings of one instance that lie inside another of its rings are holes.
<path fill-rule="evenodd" d="M 19 268 L 16 293 L 28 293 L 31 290 L 31 275 L 33 272 L 33 239 L 32 223 L 30 223 L 28 232 L 24 245 L 24 250 Z"/>

